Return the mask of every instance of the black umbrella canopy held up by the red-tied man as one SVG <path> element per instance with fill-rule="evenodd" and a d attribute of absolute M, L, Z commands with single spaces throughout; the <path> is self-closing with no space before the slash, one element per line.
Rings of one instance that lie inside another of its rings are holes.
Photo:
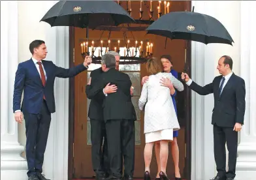
<path fill-rule="evenodd" d="M 114 1 L 59 1 L 42 18 L 51 26 L 95 28 L 99 25 L 134 23 L 126 10 Z"/>

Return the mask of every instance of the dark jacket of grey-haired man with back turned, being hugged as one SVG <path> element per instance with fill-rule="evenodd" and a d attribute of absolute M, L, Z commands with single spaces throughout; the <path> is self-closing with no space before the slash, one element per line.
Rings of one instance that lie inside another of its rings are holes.
<path fill-rule="evenodd" d="M 110 68 L 101 76 L 101 83 L 93 87 L 91 95 L 102 97 L 103 88 L 107 83 L 115 84 L 118 87 L 116 93 L 108 94 L 103 100 L 104 121 L 110 119 L 136 120 L 135 108 L 131 101 L 131 80 L 123 72 Z"/>

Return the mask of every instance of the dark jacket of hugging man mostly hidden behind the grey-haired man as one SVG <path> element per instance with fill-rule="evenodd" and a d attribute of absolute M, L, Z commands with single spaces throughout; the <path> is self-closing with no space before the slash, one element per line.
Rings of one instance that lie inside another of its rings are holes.
<path fill-rule="evenodd" d="M 97 83 L 101 82 L 101 74 L 103 73 L 102 68 L 97 68 L 91 71 L 91 85 L 86 85 L 86 95 L 91 102 L 89 104 L 88 117 L 90 119 L 103 120 L 103 93 L 99 93 L 99 95 L 93 94 L 93 87 L 97 85 Z"/>

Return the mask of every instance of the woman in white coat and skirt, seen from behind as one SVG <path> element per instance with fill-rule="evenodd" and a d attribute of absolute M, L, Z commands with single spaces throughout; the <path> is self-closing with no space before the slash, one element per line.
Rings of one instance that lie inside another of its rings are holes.
<path fill-rule="evenodd" d="M 161 179 L 168 179 L 166 175 L 168 159 L 168 142 L 173 140 L 173 130 L 179 130 L 180 125 L 176 116 L 170 89 L 161 85 L 162 78 L 168 78 L 178 91 L 184 90 L 182 82 L 172 74 L 162 72 L 157 59 L 149 59 L 146 69 L 150 74 L 148 82 L 144 83 L 138 106 L 145 110 L 144 134 L 146 145 L 144 149 L 145 173 L 144 179 L 150 179 L 150 162 L 155 142 L 160 143 Z"/>

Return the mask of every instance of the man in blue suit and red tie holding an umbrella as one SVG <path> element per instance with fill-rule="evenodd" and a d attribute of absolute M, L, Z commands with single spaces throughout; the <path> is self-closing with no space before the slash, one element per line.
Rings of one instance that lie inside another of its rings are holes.
<path fill-rule="evenodd" d="M 84 63 L 73 68 L 57 67 L 52 61 L 44 61 L 47 49 L 43 40 L 29 44 L 31 59 L 18 65 L 14 82 L 13 112 L 15 120 L 25 119 L 27 137 L 25 152 L 27 156 L 29 180 L 48 180 L 42 175 L 44 151 L 50 128 L 51 113 L 56 111 L 54 100 L 55 78 L 71 78 L 83 72 L 91 63 L 87 56 Z M 24 99 L 22 106 L 22 91 Z"/>

